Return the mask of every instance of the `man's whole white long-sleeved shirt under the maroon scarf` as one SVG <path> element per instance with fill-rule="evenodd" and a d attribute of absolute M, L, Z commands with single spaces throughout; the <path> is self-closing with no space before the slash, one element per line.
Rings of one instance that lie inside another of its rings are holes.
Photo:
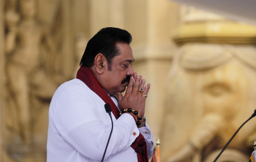
<path fill-rule="evenodd" d="M 49 109 L 47 162 L 101 161 L 112 126 L 104 105 L 79 79 L 59 86 Z M 117 120 L 112 112 L 111 115 L 114 126 L 104 161 L 138 161 L 130 145 L 139 132 L 147 142 L 150 158 L 154 139 L 149 126 L 138 129 L 130 114 L 123 114 Z"/>

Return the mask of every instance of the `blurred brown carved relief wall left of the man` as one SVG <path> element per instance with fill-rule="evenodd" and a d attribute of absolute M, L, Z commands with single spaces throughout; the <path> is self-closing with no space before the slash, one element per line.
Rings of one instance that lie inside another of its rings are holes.
<path fill-rule="evenodd" d="M 55 8 L 51 8 L 49 22 L 53 24 L 38 17 L 38 3 L 5 1 L 4 144 L 9 161 L 45 161 L 49 103 L 58 85 L 67 79 L 60 67 L 62 38 L 57 32 L 63 25 L 61 3 L 52 2 Z"/>

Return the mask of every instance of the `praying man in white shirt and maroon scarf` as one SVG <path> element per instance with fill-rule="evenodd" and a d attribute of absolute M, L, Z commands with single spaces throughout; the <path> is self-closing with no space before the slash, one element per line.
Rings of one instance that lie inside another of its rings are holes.
<path fill-rule="evenodd" d="M 145 86 L 131 67 L 131 40 L 126 30 L 109 27 L 87 43 L 77 78 L 62 84 L 51 100 L 48 162 L 101 161 L 112 126 L 106 103 L 112 110 L 113 133 L 104 161 L 151 157 L 154 140 L 144 117 L 150 84 Z"/>

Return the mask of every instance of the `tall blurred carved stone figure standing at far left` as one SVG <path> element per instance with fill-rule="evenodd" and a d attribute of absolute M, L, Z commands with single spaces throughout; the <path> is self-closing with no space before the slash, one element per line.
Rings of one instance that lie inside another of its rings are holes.
<path fill-rule="evenodd" d="M 32 101 L 46 102 L 55 90 L 45 72 L 50 69 L 46 63 L 55 50 L 45 25 L 37 20 L 36 5 L 35 0 L 20 0 L 20 16 L 13 10 L 6 14 L 7 126 L 25 143 L 32 141 L 31 128 L 40 108 L 38 102 Z"/>

